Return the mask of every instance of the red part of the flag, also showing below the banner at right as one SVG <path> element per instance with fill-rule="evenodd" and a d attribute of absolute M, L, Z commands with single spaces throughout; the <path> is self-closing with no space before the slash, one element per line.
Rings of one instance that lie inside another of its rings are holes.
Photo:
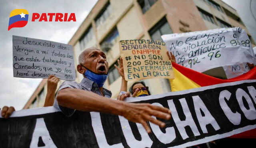
<path fill-rule="evenodd" d="M 183 75 L 185 75 L 186 77 L 188 77 L 189 79 L 191 79 L 192 81 L 194 81 L 195 83 L 197 83 L 202 87 L 214 85 L 214 84 L 220 84 L 220 83 L 256 79 L 256 67 L 254 67 L 252 70 L 238 77 L 223 80 L 223 79 L 211 77 L 209 75 L 205 75 L 203 73 L 199 73 L 198 71 L 194 71 L 190 68 L 183 67 L 181 65 L 178 65 L 177 63 L 172 63 L 172 66 L 176 68 L 180 73 L 182 73 Z M 256 138 L 256 128 L 253 130 L 242 132 L 240 134 L 235 134 L 233 136 L 230 136 L 229 138 Z"/>

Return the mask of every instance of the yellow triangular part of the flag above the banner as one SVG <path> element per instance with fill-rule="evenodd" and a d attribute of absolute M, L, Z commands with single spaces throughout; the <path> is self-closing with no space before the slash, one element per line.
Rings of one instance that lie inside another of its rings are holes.
<path fill-rule="evenodd" d="M 173 68 L 174 75 L 175 75 L 174 79 L 170 79 L 172 91 L 183 91 L 183 90 L 187 90 L 187 89 L 194 89 L 194 88 L 201 87 L 200 85 L 198 85 L 191 79 L 184 76 L 182 73 L 180 73 L 174 67 L 172 67 L 172 68 Z"/>

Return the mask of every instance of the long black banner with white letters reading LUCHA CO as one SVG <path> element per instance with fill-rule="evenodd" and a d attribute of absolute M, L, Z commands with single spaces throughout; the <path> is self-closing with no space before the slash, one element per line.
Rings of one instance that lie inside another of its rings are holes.
<path fill-rule="evenodd" d="M 256 128 L 256 80 L 236 81 L 147 97 L 172 112 L 165 128 L 152 133 L 122 116 L 76 111 L 66 117 L 54 107 L 16 111 L 0 118 L 1 146 L 7 147 L 186 147 Z"/>

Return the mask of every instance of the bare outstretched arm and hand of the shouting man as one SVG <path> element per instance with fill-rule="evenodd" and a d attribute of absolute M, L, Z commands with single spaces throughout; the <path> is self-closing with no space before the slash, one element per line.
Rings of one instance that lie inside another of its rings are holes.
<path fill-rule="evenodd" d="M 124 116 L 132 122 L 141 123 L 146 131 L 150 133 L 147 121 L 164 127 L 165 123 L 153 118 L 163 118 L 169 120 L 170 110 L 149 103 L 126 103 L 124 101 L 116 101 L 106 99 L 95 93 L 80 89 L 66 88 L 58 92 L 56 97 L 58 104 L 79 111 L 95 111 L 108 114 L 116 114 Z"/>

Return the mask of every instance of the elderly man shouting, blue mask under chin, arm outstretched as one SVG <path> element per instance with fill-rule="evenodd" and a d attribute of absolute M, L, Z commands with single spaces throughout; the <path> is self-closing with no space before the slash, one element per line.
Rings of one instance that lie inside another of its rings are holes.
<path fill-rule="evenodd" d="M 132 122 L 141 123 L 150 133 L 147 121 L 164 127 L 165 123 L 153 118 L 169 120 L 170 110 L 148 103 L 126 103 L 110 98 L 112 93 L 102 86 L 108 77 L 108 61 L 103 51 L 90 47 L 79 55 L 77 71 L 84 78 L 81 83 L 65 81 L 60 86 L 54 107 L 59 107 L 66 116 L 72 116 L 76 110 L 95 111 L 124 116 Z M 130 97 L 130 93 L 122 97 Z"/>

